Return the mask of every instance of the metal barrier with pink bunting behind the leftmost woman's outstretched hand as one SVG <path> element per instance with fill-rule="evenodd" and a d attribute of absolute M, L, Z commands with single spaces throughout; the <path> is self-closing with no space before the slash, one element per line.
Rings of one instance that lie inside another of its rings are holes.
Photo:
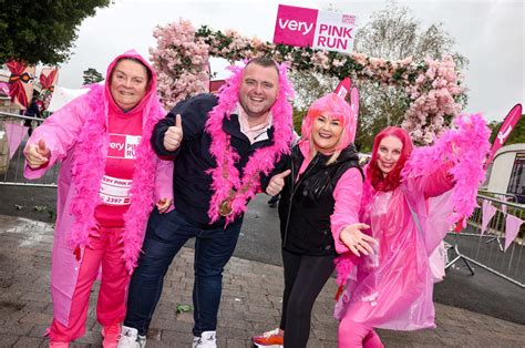
<path fill-rule="evenodd" d="M 29 117 L 0 112 L 0 185 L 56 187 L 59 165 L 54 165 L 41 178 L 29 181 L 23 176 L 23 147 L 28 140 L 28 131 L 22 127 L 27 120 L 35 129 L 42 119 Z M 10 157 L 9 143 L 12 139 L 21 139 L 18 149 Z"/>

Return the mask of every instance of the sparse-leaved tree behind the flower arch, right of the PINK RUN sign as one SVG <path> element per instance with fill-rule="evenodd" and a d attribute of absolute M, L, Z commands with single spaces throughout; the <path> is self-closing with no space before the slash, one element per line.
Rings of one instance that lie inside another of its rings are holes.
<path fill-rule="evenodd" d="M 442 23 L 421 28 L 421 23 L 404 7 L 389 2 L 372 14 L 369 22 L 356 34 L 356 52 L 385 60 L 403 60 L 412 57 L 423 61 L 426 57 L 441 59 L 451 54 L 461 70 L 469 63 L 460 53 L 453 52 L 454 39 L 444 31 Z M 410 103 L 406 91 L 393 85 L 381 85 L 370 81 L 354 81 L 360 92 L 359 130 L 356 143 L 361 151 L 370 151 L 373 136 L 387 125 L 401 125 Z M 466 100 L 462 101 L 463 104 Z"/>

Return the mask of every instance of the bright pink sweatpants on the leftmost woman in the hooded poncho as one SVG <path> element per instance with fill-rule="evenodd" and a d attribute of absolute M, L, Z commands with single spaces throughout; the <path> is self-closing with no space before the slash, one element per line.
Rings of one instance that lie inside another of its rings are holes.
<path fill-rule="evenodd" d="M 126 311 L 127 284 L 130 275 L 122 259 L 120 245 L 123 228 L 99 227 L 90 235 L 91 247 L 84 250 L 79 279 L 73 294 L 70 326 L 53 319 L 49 337 L 52 341 L 65 342 L 85 334 L 85 320 L 91 288 L 102 265 L 102 279 L 96 303 L 96 317 L 102 326 L 121 323 Z"/>

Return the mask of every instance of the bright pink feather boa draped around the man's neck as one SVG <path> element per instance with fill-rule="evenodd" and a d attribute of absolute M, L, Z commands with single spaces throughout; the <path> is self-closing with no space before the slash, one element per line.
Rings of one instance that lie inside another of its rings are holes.
<path fill-rule="evenodd" d="M 209 112 L 209 119 L 206 122 L 206 131 L 212 137 L 209 152 L 217 162 L 217 167 L 209 171 L 214 195 L 208 216 L 212 223 L 218 221 L 220 218 L 219 204 L 228 197 L 231 190 L 235 190 L 237 193 L 231 202 L 233 213 L 226 216 L 227 224 L 246 211 L 247 202 L 260 187 L 259 174 L 267 175 L 280 156 L 290 152 L 292 109 L 288 101 L 294 98 L 294 90 L 287 78 L 287 66 L 281 64 L 279 66 L 279 95 L 271 108 L 274 144 L 256 150 L 246 164 L 243 180 L 240 180 L 239 171 L 234 165 L 239 160 L 239 155 L 229 145 L 228 135 L 223 131 L 223 120 L 229 119 L 237 106 L 244 69 L 241 66 L 228 69 L 233 72 L 233 76 L 220 89 L 219 103 Z M 240 187 L 247 190 L 239 192 Z"/>

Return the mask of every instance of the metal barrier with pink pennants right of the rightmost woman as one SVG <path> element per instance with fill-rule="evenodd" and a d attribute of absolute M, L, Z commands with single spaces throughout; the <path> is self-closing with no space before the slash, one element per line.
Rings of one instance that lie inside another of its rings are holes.
<path fill-rule="evenodd" d="M 484 201 L 491 202 L 497 211 L 485 233 L 481 234 Z M 523 219 L 525 217 L 525 205 L 500 201 L 485 195 L 477 195 L 477 204 L 478 207 L 469 218 L 466 227 L 461 233 L 449 234 L 449 236 L 453 235 L 454 242 L 451 249 L 455 253 L 455 257 L 446 264 L 445 269 L 462 260 L 472 275 L 474 275 L 473 264 L 525 288 L 523 232 L 514 238 L 507 250 L 504 250 L 506 214 Z M 522 225 L 522 227 L 524 226 L 525 224 Z"/>

